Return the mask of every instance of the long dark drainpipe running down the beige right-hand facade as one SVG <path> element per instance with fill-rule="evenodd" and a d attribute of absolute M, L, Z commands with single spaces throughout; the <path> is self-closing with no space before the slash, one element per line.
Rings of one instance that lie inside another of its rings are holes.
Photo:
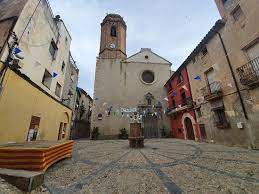
<path fill-rule="evenodd" d="M 232 67 L 231 62 L 230 62 L 230 59 L 229 59 L 229 57 L 228 57 L 228 53 L 227 53 L 226 46 L 225 46 L 225 44 L 224 44 L 224 41 L 223 41 L 223 39 L 222 39 L 221 34 L 220 34 L 218 31 L 214 31 L 214 32 L 219 35 L 219 39 L 220 39 L 220 42 L 221 42 L 221 44 L 222 44 L 222 47 L 223 47 L 225 56 L 226 56 L 226 58 L 227 58 L 227 62 L 228 62 L 228 66 L 229 66 L 230 71 L 231 71 L 232 78 L 233 78 L 233 80 L 234 80 L 234 82 L 235 82 L 235 86 L 236 86 L 236 88 L 237 88 L 237 93 L 238 93 L 238 97 L 239 97 L 239 100 L 240 100 L 240 103 L 241 103 L 241 107 L 242 107 L 244 116 L 245 116 L 246 120 L 248 120 L 249 118 L 248 118 L 247 111 L 246 111 L 246 108 L 245 108 L 244 100 L 243 100 L 243 98 L 242 98 L 242 95 L 241 95 L 241 92 L 240 92 L 240 89 L 239 89 L 239 86 L 238 86 L 238 83 L 237 83 L 237 80 L 236 80 L 236 77 L 235 77 L 235 74 L 234 74 L 233 67 Z"/>

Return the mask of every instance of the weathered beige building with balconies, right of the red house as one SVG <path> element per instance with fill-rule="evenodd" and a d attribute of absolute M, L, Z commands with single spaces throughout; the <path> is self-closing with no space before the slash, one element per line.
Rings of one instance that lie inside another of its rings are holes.
<path fill-rule="evenodd" d="M 222 20 L 180 68 L 187 68 L 201 136 L 258 148 L 259 3 L 215 2 Z"/>

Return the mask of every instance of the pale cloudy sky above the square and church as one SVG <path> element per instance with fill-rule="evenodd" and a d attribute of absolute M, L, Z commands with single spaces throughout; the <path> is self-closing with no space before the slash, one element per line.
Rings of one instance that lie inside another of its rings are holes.
<path fill-rule="evenodd" d="M 71 52 L 80 70 L 79 87 L 91 96 L 100 23 L 107 13 L 127 23 L 127 55 L 151 48 L 176 70 L 220 19 L 214 0 L 49 0 L 71 36 Z"/>

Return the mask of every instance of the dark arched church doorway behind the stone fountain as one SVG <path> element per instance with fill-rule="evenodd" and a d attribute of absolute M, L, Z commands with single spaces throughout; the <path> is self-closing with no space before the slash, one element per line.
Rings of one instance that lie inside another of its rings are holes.
<path fill-rule="evenodd" d="M 158 118 L 156 115 L 148 114 L 144 117 L 144 136 L 145 138 L 158 138 Z"/>

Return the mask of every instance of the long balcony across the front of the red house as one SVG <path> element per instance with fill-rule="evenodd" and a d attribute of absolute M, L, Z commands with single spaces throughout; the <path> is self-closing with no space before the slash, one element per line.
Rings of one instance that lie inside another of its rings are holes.
<path fill-rule="evenodd" d="M 173 115 L 193 108 L 193 101 L 191 98 L 182 99 L 177 104 L 178 105 L 173 105 L 171 108 L 167 108 L 167 115 Z"/>

